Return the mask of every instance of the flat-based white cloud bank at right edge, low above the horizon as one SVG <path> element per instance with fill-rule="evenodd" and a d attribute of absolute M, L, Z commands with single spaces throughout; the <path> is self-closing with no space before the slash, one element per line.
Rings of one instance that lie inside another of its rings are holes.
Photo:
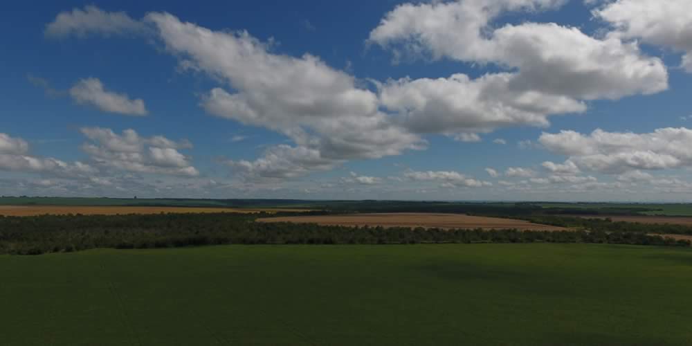
<path fill-rule="evenodd" d="M 648 134 L 561 131 L 544 133 L 539 141 L 549 151 L 569 156 L 565 165 L 581 170 L 622 174 L 692 166 L 692 130 L 686 128 L 668 127 Z"/>

